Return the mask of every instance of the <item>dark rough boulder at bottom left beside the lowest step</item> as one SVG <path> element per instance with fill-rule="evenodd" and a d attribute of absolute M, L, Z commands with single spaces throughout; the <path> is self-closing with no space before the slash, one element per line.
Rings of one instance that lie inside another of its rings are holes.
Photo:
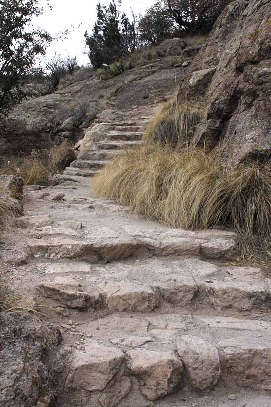
<path fill-rule="evenodd" d="M 30 315 L 0 313 L 0 406 L 48 407 L 58 395 L 58 330 Z"/>

